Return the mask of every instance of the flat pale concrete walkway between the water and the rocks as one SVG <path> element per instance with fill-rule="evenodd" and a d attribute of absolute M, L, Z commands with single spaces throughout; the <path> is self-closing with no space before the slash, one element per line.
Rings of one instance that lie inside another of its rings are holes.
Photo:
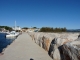
<path fill-rule="evenodd" d="M 9 45 L 0 60 L 52 60 L 48 53 L 34 43 L 27 33 L 20 35 Z"/>

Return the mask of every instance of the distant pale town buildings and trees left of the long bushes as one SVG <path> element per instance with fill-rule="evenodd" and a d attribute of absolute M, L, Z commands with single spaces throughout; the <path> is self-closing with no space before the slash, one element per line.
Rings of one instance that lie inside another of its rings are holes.
<path fill-rule="evenodd" d="M 16 32 L 37 32 L 39 31 L 39 28 L 33 27 L 33 28 L 21 28 L 20 26 L 16 27 L 9 27 L 9 26 L 0 26 L 0 32 L 10 32 L 10 31 L 16 31 Z"/>

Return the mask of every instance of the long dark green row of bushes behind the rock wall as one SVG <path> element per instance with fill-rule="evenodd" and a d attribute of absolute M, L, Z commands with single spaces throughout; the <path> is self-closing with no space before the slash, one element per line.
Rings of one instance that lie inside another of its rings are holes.
<path fill-rule="evenodd" d="M 66 32 L 66 28 L 50 28 L 50 27 L 42 27 L 40 32 Z"/>

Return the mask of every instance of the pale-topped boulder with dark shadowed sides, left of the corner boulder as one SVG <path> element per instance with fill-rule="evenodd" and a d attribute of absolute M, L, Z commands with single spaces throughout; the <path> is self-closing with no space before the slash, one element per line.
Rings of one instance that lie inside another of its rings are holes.
<path fill-rule="evenodd" d="M 61 34 L 52 40 L 48 54 L 53 58 L 53 60 L 64 60 L 62 50 L 63 44 L 74 41 L 77 38 L 78 34 Z"/>

